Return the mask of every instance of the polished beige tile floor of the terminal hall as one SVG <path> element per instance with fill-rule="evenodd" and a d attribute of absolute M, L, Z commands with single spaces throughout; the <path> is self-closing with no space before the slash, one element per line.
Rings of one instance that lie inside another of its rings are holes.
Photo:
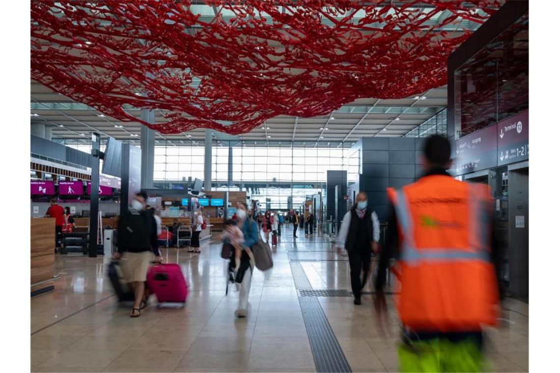
<path fill-rule="evenodd" d="M 31 371 L 34 372 L 308 372 L 315 371 L 298 294 L 290 268 L 300 259 L 314 289 L 350 290 L 346 259 L 313 235 L 283 235 L 274 267 L 255 270 L 250 313 L 234 318 L 237 292 L 225 296 L 226 261 L 220 244 L 203 243 L 201 254 L 164 250 L 189 281 L 186 306 L 158 306 L 154 299 L 140 318 L 118 304 L 106 277 L 109 258 L 57 256 L 56 290 L 31 300 Z M 371 291 L 366 289 L 365 291 Z M 352 371 L 398 371 L 398 322 L 380 331 L 365 295 L 318 298 Z M 500 329 L 489 329 L 493 371 L 529 369 L 529 305 L 508 299 Z"/>

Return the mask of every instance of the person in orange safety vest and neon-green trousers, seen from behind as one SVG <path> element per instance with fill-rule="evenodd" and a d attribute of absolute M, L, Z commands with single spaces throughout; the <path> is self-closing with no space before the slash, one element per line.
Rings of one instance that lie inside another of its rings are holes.
<path fill-rule="evenodd" d="M 430 136 L 421 159 L 424 176 L 388 191 L 374 306 L 380 318 L 386 315 L 386 269 L 396 256 L 406 341 L 398 350 L 402 371 L 481 371 L 482 327 L 497 324 L 503 287 L 489 189 L 450 176 L 450 155 L 447 138 Z"/>

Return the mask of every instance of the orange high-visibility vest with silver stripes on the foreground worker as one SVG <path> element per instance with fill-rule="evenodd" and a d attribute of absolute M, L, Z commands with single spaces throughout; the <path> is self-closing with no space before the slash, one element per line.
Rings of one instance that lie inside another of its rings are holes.
<path fill-rule="evenodd" d="M 389 188 L 400 236 L 400 319 L 417 331 L 459 332 L 496 324 L 488 187 L 445 175 Z"/>

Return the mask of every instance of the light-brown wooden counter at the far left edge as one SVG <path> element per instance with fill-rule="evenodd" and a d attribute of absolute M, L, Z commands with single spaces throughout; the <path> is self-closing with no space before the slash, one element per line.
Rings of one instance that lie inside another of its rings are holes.
<path fill-rule="evenodd" d="M 54 290 L 54 218 L 31 218 L 31 296 Z"/>

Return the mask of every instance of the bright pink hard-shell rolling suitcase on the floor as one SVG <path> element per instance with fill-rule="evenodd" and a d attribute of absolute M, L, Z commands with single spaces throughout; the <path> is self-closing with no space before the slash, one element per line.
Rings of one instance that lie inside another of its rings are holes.
<path fill-rule="evenodd" d="M 185 303 L 188 285 L 177 264 L 155 264 L 148 270 L 148 289 L 157 296 L 157 301 Z"/>

